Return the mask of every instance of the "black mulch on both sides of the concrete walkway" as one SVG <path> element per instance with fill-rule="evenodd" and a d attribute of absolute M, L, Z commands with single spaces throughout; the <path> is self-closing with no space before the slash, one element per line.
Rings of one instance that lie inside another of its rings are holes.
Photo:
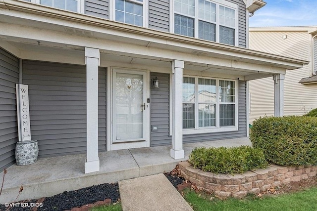
<path fill-rule="evenodd" d="M 176 188 L 178 184 L 184 182 L 184 178 L 180 177 L 175 171 L 165 173 L 167 179 Z M 75 207 L 81 207 L 87 204 L 93 204 L 97 201 L 111 199 L 117 202 L 120 198 L 118 183 L 105 183 L 94 185 L 88 188 L 82 188 L 75 191 L 65 191 L 52 197 L 45 198 L 43 207 L 39 207 L 38 211 L 64 211 L 71 210 Z M 36 203 L 37 200 L 23 201 L 20 203 Z M 0 211 L 5 211 L 4 205 L 0 205 Z M 31 208 L 12 207 L 10 211 L 30 211 Z"/>

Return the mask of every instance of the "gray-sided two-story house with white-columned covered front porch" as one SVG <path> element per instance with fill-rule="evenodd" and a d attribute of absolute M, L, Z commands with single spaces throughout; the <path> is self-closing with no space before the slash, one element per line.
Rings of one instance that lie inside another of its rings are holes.
<path fill-rule="evenodd" d="M 0 0 L 0 168 L 15 162 L 16 83 L 39 157 L 87 152 L 85 172 L 98 151 L 172 145 L 180 159 L 183 143 L 248 136 L 248 81 L 306 64 L 247 49 L 249 12 L 264 5 Z"/>

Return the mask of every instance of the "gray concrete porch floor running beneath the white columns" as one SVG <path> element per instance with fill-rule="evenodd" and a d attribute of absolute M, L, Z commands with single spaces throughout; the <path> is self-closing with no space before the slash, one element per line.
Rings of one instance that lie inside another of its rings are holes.
<path fill-rule="evenodd" d="M 20 186 L 18 200 L 38 199 L 102 183 L 136 178 L 170 171 L 180 161 L 188 159 L 195 147 L 231 147 L 251 145 L 249 137 L 188 143 L 183 145 L 185 158 L 170 157 L 170 146 L 136 148 L 100 152 L 100 171 L 84 173 L 86 154 L 41 158 L 29 166 L 7 168 L 0 204 L 13 202 Z M 0 177 L 2 177 L 1 171 Z"/>

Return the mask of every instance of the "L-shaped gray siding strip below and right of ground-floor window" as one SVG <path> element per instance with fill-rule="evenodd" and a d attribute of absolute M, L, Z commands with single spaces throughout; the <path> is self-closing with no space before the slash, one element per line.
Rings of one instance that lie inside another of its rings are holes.
<path fill-rule="evenodd" d="M 238 131 L 183 135 L 183 143 L 246 137 L 247 136 L 246 102 L 247 102 L 246 101 L 246 83 L 244 81 L 239 81 L 238 82 L 238 118 L 239 118 Z"/>

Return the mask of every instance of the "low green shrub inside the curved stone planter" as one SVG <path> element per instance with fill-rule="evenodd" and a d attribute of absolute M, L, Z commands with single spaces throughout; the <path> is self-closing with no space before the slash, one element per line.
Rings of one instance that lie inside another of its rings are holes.
<path fill-rule="evenodd" d="M 267 166 L 262 150 L 250 146 L 195 148 L 189 155 L 189 163 L 213 173 L 243 173 Z"/>

